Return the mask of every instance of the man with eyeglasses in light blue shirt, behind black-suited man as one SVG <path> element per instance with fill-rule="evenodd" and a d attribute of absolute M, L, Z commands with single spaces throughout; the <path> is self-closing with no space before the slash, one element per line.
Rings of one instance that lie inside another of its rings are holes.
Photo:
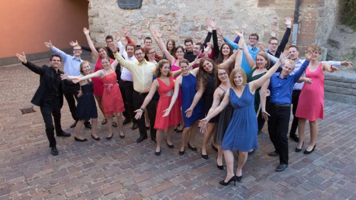
<path fill-rule="evenodd" d="M 80 63 L 83 62 L 81 59 L 81 54 L 82 54 L 82 48 L 80 45 L 75 45 L 73 46 L 73 56 L 68 55 L 64 52 L 62 52 L 60 49 L 56 48 L 55 46 L 52 45 L 51 40 L 49 42 L 44 42 L 44 45 L 46 45 L 50 50 L 58 54 L 60 57 L 63 58 L 64 61 L 64 73 L 66 73 L 68 76 L 79 76 L 80 73 Z M 78 122 L 78 116 L 77 116 L 77 107 L 75 105 L 75 100 L 78 99 L 78 91 L 80 90 L 79 83 L 73 83 L 72 81 L 69 80 L 63 80 L 63 94 L 64 97 L 68 103 L 69 110 L 71 111 L 72 117 L 75 120 L 74 123 L 71 125 L 71 128 L 74 128 L 77 125 Z M 89 121 L 84 122 L 85 128 L 91 129 L 91 124 Z"/>

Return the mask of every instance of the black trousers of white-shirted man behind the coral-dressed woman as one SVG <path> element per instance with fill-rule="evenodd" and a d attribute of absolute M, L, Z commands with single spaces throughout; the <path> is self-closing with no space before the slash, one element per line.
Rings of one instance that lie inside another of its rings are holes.
<path fill-rule="evenodd" d="M 132 81 L 123 81 L 120 80 L 120 91 L 121 96 L 125 105 L 125 112 L 123 113 L 124 117 L 131 118 L 133 123 L 137 123 L 135 119 L 135 113 L 133 113 L 133 82 Z"/>

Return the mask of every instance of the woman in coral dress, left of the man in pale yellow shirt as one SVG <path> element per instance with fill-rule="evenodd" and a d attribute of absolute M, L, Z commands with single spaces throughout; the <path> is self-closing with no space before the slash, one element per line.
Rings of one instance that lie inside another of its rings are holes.
<path fill-rule="evenodd" d="M 113 137 L 113 130 L 112 130 L 112 121 L 113 121 L 113 114 L 115 114 L 118 127 L 119 127 L 119 132 L 120 132 L 120 138 L 124 138 L 125 135 L 123 133 L 123 125 L 122 125 L 122 112 L 125 111 L 124 108 L 124 103 L 122 101 L 121 97 L 121 92 L 119 88 L 119 84 L 117 84 L 116 80 L 116 73 L 115 73 L 115 68 L 118 64 L 118 61 L 115 60 L 111 65 L 110 65 L 110 58 L 109 57 L 103 57 L 101 58 L 101 65 L 103 66 L 102 69 L 92 73 L 88 74 L 84 77 L 81 78 L 76 78 L 73 79 L 74 83 L 78 83 L 79 81 L 91 79 L 94 77 L 100 77 L 101 81 L 103 82 L 103 87 L 104 87 L 104 92 L 103 92 L 103 97 L 101 101 L 101 106 L 104 111 L 104 115 L 107 119 L 108 123 L 108 128 L 109 128 L 109 133 L 106 137 L 107 140 L 112 139 Z"/>

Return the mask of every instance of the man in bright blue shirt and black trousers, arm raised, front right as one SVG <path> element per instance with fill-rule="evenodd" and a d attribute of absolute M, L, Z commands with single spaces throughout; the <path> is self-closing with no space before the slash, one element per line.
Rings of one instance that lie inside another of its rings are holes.
<path fill-rule="evenodd" d="M 269 153 L 269 156 L 279 155 L 280 164 L 276 168 L 276 171 L 283 171 L 288 166 L 287 133 L 291 116 L 293 87 L 309 65 L 311 55 L 310 52 L 305 55 L 306 61 L 293 75 L 291 75 L 291 73 L 294 70 L 295 62 L 293 60 L 285 61 L 282 71 L 273 74 L 270 80 L 269 89 L 271 91 L 271 103 L 268 109 L 268 113 L 270 114 L 268 120 L 268 132 L 276 150 Z M 268 115 L 268 113 L 265 111 L 262 112 L 264 118 L 267 118 L 266 115 Z"/>

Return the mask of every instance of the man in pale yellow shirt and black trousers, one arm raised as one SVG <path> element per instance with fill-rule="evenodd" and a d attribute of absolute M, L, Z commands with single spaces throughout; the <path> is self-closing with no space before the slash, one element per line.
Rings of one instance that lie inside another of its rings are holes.
<path fill-rule="evenodd" d="M 119 63 L 131 71 L 132 78 L 133 78 L 133 109 L 138 110 L 144 109 L 141 108 L 145 97 L 147 96 L 151 86 L 152 86 L 152 79 L 153 79 L 153 71 L 155 70 L 155 64 L 146 61 L 144 50 L 141 47 L 136 47 L 133 51 L 135 58 L 137 61 L 126 61 L 118 52 L 117 48 L 114 44 L 109 44 L 109 48 L 113 51 L 115 58 L 119 61 Z M 155 113 L 156 108 L 154 101 L 151 101 L 147 105 L 148 116 L 150 120 L 150 135 L 151 140 L 156 142 L 156 130 L 154 129 L 154 120 L 155 120 Z M 140 119 L 137 120 L 140 137 L 136 140 L 137 143 L 142 142 L 143 140 L 147 139 L 147 130 L 145 126 L 145 117 L 142 115 Z"/>

